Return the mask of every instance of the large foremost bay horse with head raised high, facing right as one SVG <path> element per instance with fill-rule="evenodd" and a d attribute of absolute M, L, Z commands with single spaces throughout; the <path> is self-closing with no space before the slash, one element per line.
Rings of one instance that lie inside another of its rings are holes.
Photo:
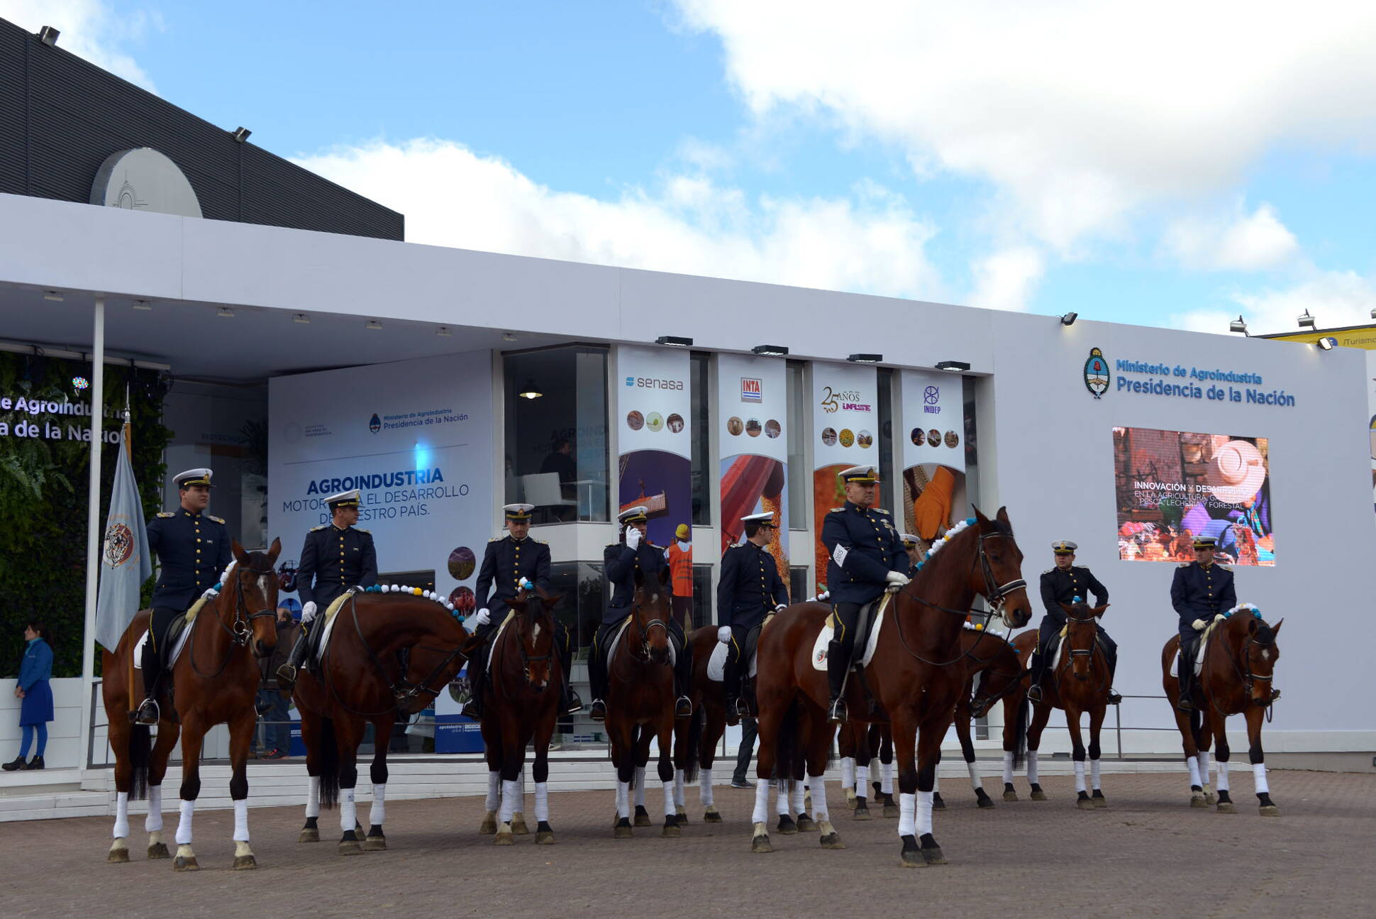
<path fill-rule="evenodd" d="M 903 865 L 945 863 L 932 834 L 932 792 L 941 739 L 966 684 L 967 655 L 960 649 L 960 633 L 971 601 L 982 594 L 1010 627 L 1021 627 L 1032 615 L 1022 552 L 1007 510 L 1000 508 L 992 520 L 978 509 L 974 515 L 952 527 L 941 550 L 930 553 L 912 581 L 893 594 L 879 623 L 874 659 L 859 678 L 848 680 L 846 703 L 856 713 L 852 717 L 888 720 L 893 732 Z M 827 810 L 824 770 L 835 733 L 826 717 L 827 674 L 812 660 L 830 614 L 821 603 L 794 604 L 775 616 L 760 638 L 757 775 L 762 781 L 755 787 L 751 852 L 773 850 L 765 824 L 765 780 L 776 764 L 780 777 L 793 773 L 790 777 L 797 780 L 804 779 L 798 766 L 805 766 L 821 846 L 843 847 Z M 856 653 L 863 658 L 864 647 L 857 644 Z"/>

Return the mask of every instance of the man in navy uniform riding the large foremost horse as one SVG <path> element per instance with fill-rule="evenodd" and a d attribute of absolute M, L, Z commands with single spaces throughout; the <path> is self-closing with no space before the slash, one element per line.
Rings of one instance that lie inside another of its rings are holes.
<path fill-rule="evenodd" d="M 846 671 L 856 641 L 860 609 L 883 594 L 908 583 L 911 563 L 899 541 L 888 510 L 874 508 L 879 475 L 874 466 L 852 466 L 839 473 L 846 502 L 827 512 L 821 524 L 821 545 L 827 548 L 827 589 L 831 592 L 831 625 L 835 633 L 827 645 L 827 680 L 831 704 L 827 720 L 843 724 L 842 699 Z"/>

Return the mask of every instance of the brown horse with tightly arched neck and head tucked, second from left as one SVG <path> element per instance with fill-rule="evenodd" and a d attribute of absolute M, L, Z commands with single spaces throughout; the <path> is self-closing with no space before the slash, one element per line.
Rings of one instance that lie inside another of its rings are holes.
<path fill-rule="evenodd" d="M 296 680 L 310 792 L 297 842 L 319 842 L 321 808 L 340 808 L 338 853 L 387 849 L 387 747 L 399 717 L 433 702 L 465 662 L 475 641 L 440 601 L 410 593 L 356 592 L 334 614 L 321 660 Z M 318 620 L 323 627 L 323 616 Z M 407 671 L 396 652 L 410 648 Z M 355 788 L 358 747 L 373 725 L 373 806 L 361 838 Z"/>

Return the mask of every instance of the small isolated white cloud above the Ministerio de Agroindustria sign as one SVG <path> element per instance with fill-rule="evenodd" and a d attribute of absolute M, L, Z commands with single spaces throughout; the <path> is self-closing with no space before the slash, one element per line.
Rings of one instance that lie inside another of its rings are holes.
<path fill-rule="evenodd" d="M 1299 255 L 1295 234 L 1269 204 L 1249 215 L 1238 204 L 1225 220 L 1182 217 L 1167 227 L 1161 248 L 1185 267 L 1207 271 L 1276 268 Z"/>

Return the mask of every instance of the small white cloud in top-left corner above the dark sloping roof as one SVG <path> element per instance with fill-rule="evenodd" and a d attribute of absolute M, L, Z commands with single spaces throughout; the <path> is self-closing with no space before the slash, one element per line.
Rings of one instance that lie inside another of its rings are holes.
<path fill-rule="evenodd" d="M 100 0 L 0 0 L 0 19 L 37 32 L 52 26 L 58 47 L 155 92 L 153 80 L 120 45 L 162 30 L 162 18 L 147 10 L 116 12 Z"/>

